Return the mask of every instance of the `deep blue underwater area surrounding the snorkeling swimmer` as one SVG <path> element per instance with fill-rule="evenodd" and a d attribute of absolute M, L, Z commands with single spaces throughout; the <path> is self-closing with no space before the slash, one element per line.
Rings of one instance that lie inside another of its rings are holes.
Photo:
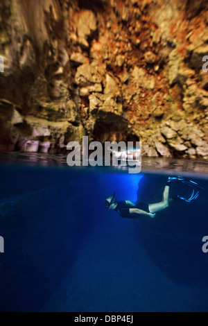
<path fill-rule="evenodd" d="M 167 175 L 0 166 L 0 311 L 208 311 L 207 191 L 155 218 L 105 198 L 155 203 Z M 193 178 L 208 189 L 207 179 Z M 175 189 L 171 194 L 190 193 Z"/>

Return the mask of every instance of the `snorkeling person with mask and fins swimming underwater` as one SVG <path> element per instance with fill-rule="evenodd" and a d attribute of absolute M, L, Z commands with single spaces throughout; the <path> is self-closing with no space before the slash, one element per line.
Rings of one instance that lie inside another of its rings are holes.
<path fill-rule="evenodd" d="M 183 198 L 182 196 L 174 196 L 173 198 L 169 198 L 169 190 L 172 182 L 180 183 L 182 182 L 184 185 L 187 185 L 193 189 L 190 198 Z M 204 188 L 200 187 L 198 183 L 193 182 L 191 180 L 187 180 L 181 177 L 169 177 L 166 181 L 166 185 L 164 187 L 164 191 L 162 194 L 162 201 L 159 203 L 146 204 L 146 203 L 137 203 L 134 204 L 130 200 L 117 201 L 116 193 L 113 196 L 109 196 L 105 200 L 105 207 L 107 209 L 113 209 L 117 212 L 121 217 L 125 218 L 135 218 L 139 217 L 139 215 L 146 215 L 154 218 L 157 212 L 166 209 L 169 206 L 169 203 L 173 202 L 173 200 L 185 200 L 187 203 L 191 203 L 192 200 L 198 198 L 200 191 L 203 191 Z"/>

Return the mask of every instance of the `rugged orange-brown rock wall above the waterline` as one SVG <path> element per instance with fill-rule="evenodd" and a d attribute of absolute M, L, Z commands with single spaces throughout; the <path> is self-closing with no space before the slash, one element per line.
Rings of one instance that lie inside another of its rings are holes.
<path fill-rule="evenodd" d="M 65 153 L 83 135 L 208 158 L 203 0 L 4 0 L 0 151 Z"/>

